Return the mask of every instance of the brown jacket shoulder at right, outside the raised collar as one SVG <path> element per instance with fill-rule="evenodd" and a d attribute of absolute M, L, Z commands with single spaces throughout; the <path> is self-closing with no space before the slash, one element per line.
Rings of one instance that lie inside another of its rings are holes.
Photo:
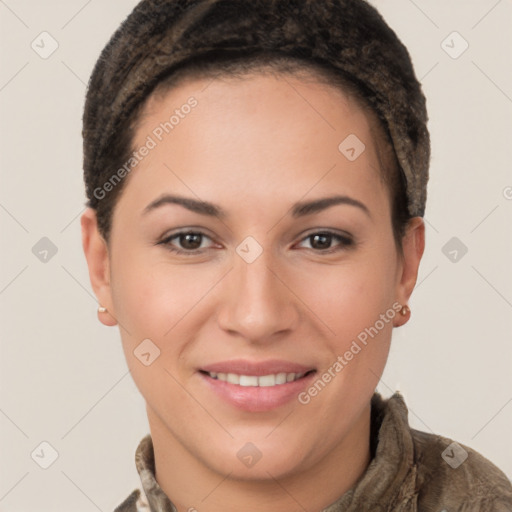
<path fill-rule="evenodd" d="M 512 485 L 477 451 L 446 437 L 411 429 L 419 510 L 509 512 Z"/>

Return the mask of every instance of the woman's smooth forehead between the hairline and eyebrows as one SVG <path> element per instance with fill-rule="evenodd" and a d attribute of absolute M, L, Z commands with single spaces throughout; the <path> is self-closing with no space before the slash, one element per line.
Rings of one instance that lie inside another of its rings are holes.
<path fill-rule="evenodd" d="M 179 176 L 200 196 L 242 185 L 253 197 L 286 190 L 295 200 L 334 184 L 382 192 L 375 120 L 353 97 L 311 78 L 182 81 L 148 100 L 133 148 L 148 138 L 154 147 L 130 176 L 146 189 Z"/>

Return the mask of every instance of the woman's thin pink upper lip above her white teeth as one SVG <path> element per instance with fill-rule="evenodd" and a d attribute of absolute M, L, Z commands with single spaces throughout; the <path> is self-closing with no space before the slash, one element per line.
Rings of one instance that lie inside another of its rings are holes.
<path fill-rule="evenodd" d="M 208 364 L 199 368 L 199 370 L 208 373 L 235 373 L 237 375 L 254 375 L 258 377 L 277 373 L 306 373 L 314 369 L 311 366 L 279 359 L 269 359 L 267 361 L 234 359 L 232 361 Z"/>

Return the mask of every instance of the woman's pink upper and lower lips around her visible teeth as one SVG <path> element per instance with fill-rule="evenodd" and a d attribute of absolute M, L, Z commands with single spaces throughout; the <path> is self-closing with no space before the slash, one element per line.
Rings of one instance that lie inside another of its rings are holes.
<path fill-rule="evenodd" d="M 311 385 L 316 369 L 290 361 L 267 360 L 261 362 L 234 360 L 213 363 L 198 370 L 207 388 L 238 410 L 247 412 L 271 411 L 296 399 Z M 275 373 L 308 373 L 298 380 L 276 386 L 239 386 L 210 377 L 205 372 L 236 373 L 239 375 L 270 375 Z"/>

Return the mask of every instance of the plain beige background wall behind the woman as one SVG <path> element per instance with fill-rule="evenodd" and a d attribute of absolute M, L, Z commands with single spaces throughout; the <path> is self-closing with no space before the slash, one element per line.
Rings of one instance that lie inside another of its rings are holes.
<path fill-rule="evenodd" d="M 410 50 L 433 146 L 412 320 L 395 331 L 379 390 L 400 389 L 413 427 L 477 449 L 510 478 L 512 2 L 373 3 Z M 79 231 L 85 87 L 135 4 L 0 1 L 1 511 L 111 511 L 139 484 L 144 402 L 117 328 L 96 319 Z M 31 48 L 43 31 L 59 45 L 47 59 Z M 453 31 L 469 44 L 456 59 L 442 47 Z M 58 249 L 46 263 L 32 252 L 43 237 Z M 443 252 L 452 237 L 468 249 L 456 262 Z M 31 458 L 43 441 L 58 452 L 46 470 Z"/>

